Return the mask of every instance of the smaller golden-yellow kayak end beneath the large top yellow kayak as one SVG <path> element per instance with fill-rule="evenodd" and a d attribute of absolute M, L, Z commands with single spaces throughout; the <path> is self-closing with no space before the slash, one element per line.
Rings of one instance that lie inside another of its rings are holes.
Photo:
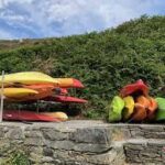
<path fill-rule="evenodd" d="M 26 89 L 26 88 L 4 88 L 3 96 L 7 99 L 21 99 L 22 97 L 34 96 L 38 94 L 36 90 Z"/>

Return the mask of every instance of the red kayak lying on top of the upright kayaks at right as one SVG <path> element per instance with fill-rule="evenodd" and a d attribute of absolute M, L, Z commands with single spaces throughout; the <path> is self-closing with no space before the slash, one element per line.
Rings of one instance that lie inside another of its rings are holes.
<path fill-rule="evenodd" d="M 133 95 L 136 91 L 141 91 L 143 96 L 147 96 L 148 94 L 148 87 L 143 82 L 142 79 L 135 81 L 134 84 L 124 86 L 120 91 L 120 96 L 127 97 Z"/>

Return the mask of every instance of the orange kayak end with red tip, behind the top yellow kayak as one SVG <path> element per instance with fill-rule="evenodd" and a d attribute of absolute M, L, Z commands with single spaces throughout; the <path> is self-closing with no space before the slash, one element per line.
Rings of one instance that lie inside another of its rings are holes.
<path fill-rule="evenodd" d="M 75 78 L 54 78 L 61 88 L 84 88 L 84 85 Z"/>

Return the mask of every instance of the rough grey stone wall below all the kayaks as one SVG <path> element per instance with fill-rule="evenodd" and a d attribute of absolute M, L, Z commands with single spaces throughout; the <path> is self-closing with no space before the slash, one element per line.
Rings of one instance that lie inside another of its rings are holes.
<path fill-rule="evenodd" d="M 0 164 L 11 150 L 23 150 L 35 165 L 165 164 L 165 125 L 0 123 Z"/>

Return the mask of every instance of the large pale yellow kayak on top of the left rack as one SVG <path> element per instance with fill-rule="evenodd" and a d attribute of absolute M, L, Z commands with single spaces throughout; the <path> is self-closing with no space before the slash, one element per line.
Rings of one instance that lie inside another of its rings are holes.
<path fill-rule="evenodd" d="M 1 76 L 0 79 L 2 79 Z M 58 86 L 58 81 L 56 79 L 38 72 L 24 72 L 4 75 L 4 87 L 20 84 L 21 85 L 52 84 Z"/>

